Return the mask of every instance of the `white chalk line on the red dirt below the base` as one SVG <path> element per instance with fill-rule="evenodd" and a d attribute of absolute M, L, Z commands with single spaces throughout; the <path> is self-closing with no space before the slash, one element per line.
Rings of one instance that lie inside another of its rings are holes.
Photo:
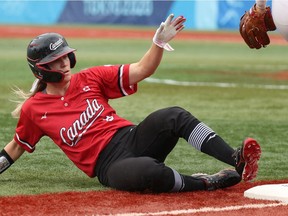
<path fill-rule="evenodd" d="M 186 210 L 172 210 L 162 212 L 146 212 L 146 213 L 122 213 L 122 214 L 111 214 L 111 216 L 148 216 L 148 215 L 183 215 L 183 214 L 195 214 L 195 213 L 210 213 L 210 212 L 222 212 L 222 211 L 233 211 L 241 209 L 260 209 L 267 207 L 278 207 L 287 206 L 288 203 L 271 203 L 271 204 L 248 204 L 240 206 L 226 206 L 226 207 L 205 207 L 200 209 L 186 209 Z"/>

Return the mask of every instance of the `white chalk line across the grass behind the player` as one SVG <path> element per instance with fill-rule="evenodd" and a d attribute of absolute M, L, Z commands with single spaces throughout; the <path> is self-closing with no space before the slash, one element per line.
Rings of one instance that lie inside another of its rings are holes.
<path fill-rule="evenodd" d="M 258 84 L 240 84 L 240 83 L 215 83 L 215 82 L 187 82 L 187 81 L 176 81 L 171 79 L 157 79 L 157 78 L 146 78 L 146 82 L 149 83 L 161 83 L 166 85 L 178 85 L 178 86 L 210 86 L 220 88 L 260 88 L 260 89 L 288 89 L 288 85 L 258 85 Z"/>

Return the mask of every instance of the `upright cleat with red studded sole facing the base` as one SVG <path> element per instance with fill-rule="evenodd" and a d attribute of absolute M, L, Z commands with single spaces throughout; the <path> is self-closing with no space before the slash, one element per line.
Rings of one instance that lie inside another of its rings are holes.
<path fill-rule="evenodd" d="M 260 145 L 252 138 L 245 139 L 242 147 L 236 149 L 233 154 L 236 162 L 236 171 L 244 181 L 251 181 L 256 178 L 260 156 Z"/>

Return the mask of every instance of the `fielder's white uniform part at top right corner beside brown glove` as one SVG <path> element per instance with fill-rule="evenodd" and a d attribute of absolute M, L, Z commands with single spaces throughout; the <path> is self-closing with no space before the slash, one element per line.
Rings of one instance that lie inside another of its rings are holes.
<path fill-rule="evenodd" d="M 277 30 L 288 41 L 288 1 L 272 1 L 272 16 Z"/>

